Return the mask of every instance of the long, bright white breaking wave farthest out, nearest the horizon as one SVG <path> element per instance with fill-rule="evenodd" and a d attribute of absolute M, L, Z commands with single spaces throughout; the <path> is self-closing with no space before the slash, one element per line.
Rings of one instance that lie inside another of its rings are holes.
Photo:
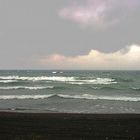
<path fill-rule="evenodd" d="M 87 77 L 87 79 L 79 79 L 78 77 L 62 77 L 62 76 L 40 76 L 40 77 L 20 77 L 20 76 L 0 76 L 0 80 L 24 80 L 24 81 L 56 81 L 56 82 L 65 82 L 68 84 L 116 84 L 115 79 L 112 78 L 93 78 Z"/>

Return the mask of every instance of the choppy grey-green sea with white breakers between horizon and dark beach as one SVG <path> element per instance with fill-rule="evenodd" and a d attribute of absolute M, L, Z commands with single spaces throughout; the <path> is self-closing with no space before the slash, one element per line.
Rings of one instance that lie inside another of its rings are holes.
<path fill-rule="evenodd" d="M 0 71 L 0 109 L 140 113 L 140 71 Z"/>

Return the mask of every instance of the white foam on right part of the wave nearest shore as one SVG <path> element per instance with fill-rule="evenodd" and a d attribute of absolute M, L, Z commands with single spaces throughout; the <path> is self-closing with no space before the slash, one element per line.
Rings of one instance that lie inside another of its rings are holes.
<path fill-rule="evenodd" d="M 125 96 L 96 96 L 90 94 L 83 95 L 64 95 L 58 94 L 57 96 L 62 98 L 72 98 L 72 99 L 88 99 L 88 100 L 112 100 L 112 101 L 140 101 L 140 97 L 125 97 Z"/>

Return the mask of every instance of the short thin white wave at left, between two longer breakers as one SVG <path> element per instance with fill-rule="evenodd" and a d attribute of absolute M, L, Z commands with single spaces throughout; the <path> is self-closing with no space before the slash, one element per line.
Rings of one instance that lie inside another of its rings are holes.
<path fill-rule="evenodd" d="M 11 87 L 0 87 L 0 90 L 16 90 L 16 89 L 28 89 L 28 90 L 39 90 L 39 89 L 53 89 L 54 86 L 37 86 L 37 87 L 25 87 L 25 86 L 11 86 Z"/>

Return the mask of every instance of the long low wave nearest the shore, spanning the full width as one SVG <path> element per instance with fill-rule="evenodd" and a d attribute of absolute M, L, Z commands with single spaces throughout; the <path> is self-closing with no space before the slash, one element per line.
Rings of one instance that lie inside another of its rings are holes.
<path fill-rule="evenodd" d="M 47 99 L 50 97 L 60 97 L 64 99 L 86 99 L 86 100 L 110 100 L 110 101 L 140 101 L 140 97 L 127 96 L 96 96 L 90 94 L 83 95 L 65 95 L 65 94 L 49 94 L 49 95 L 0 95 L 0 100 L 8 99 Z"/>

